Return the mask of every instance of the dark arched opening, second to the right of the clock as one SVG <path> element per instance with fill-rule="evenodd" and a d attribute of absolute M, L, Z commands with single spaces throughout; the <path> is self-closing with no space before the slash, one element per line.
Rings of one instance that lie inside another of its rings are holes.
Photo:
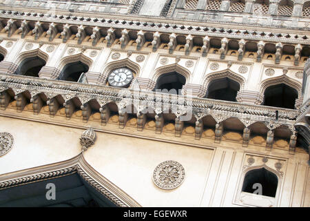
<path fill-rule="evenodd" d="M 228 77 L 214 79 L 209 83 L 205 97 L 236 102 L 236 96 L 239 90 L 240 84 Z"/>

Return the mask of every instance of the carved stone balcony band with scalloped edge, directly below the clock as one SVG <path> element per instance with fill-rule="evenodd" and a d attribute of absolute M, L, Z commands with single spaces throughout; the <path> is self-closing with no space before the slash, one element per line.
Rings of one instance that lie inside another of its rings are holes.
<path fill-rule="evenodd" d="M 30 94 L 44 93 L 49 99 L 57 95 L 61 95 L 65 101 L 78 97 L 82 104 L 85 104 L 91 99 L 96 99 L 99 104 L 115 102 L 121 105 L 121 102 L 123 102 L 123 88 L 7 74 L 0 74 L 0 79 L 0 92 L 11 88 L 15 95 L 28 90 Z M 160 106 L 162 106 L 162 108 L 176 108 L 178 106 L 177 102 L 175 102 L 178 101 L 178 95 L 156 93 L 155 96 L 154 92 L 143 90 L 140 97 L 137 98 L 135 90 L 127 89 L 127 93 L 130 95 L 127 102 L 131 102 L 134 106 L 140 105 L 141 102 L 144 102 L 144 106 L 145 103 L 154 104 L 154 97 L 156 97 L 156 99 L 160 97 Z M 213 114 L 225 115 L 227 118 L 251 118 L 253 122 L 276 121 L 279 125 L 286 125 L 289 126 L 289 128 L 293 126 L 298 116 L 298 110 L 289 110 L 285 108 L 240 104 L 237 102 L 225 102 L 198 97 L 185 97 L 185 100 L 187 104 L 183 106 L 183 108 L 191 108 L 194 115 L 200 116 L 209 115 L 211 111 Z M 276 120 L 276 111 L 278 111 L 278 120 Z"/>

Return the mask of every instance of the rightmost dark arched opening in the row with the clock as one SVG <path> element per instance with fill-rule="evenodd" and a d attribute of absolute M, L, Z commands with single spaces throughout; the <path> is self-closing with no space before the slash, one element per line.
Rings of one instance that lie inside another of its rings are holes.
<path fill-rule="evenodd" d="M 286 84 L 277 84 L 266 88 L 264 95 L 265 106 L 294 109 L 298 91 Z"/>

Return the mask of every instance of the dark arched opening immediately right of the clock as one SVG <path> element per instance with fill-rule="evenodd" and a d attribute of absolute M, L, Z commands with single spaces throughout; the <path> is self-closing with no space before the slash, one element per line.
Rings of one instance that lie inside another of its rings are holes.
<path fill-rule="evenodd" d="M 185 77 L 174 71 L 158 77 L 155 89 L 162 90 L 163 93 L 172 93 L 179 95 L 180 90 L 183 88 L 183 85 L 185 85 L 185 83 Z"/>

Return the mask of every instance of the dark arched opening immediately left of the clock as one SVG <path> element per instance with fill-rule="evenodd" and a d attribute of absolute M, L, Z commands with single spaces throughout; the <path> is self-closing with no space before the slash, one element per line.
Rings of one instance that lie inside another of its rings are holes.
<path fill-rule="evenodd" d="M 65 81 L 79 81 L 82 73 L 87 73 L 89 67 L 81 61 L 66 64 L 61 70 L 61 79 Z"/>

